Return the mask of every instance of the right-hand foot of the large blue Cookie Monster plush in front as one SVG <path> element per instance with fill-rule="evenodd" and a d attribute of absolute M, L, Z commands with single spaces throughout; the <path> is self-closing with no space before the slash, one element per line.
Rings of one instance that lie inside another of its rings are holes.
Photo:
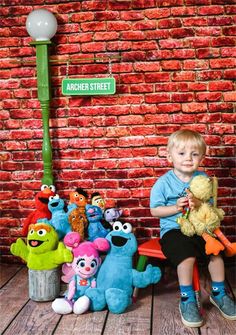
<path fill-rule="evenodd" d="M 109 311 L 114 314 L 123 313 L 132 302 L 127 292 L 117 288 L 106 290 L 105 297 Z"/>

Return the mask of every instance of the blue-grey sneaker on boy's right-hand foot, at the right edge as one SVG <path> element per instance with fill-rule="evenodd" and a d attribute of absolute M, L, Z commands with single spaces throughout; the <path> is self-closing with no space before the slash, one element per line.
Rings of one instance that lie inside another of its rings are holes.
<path fill-rule="evenodd" d="M 236 303 L 228 295 L 225 294 L 221 299 L 210 295 L 210 302 L 219 309 L 224 318 L 236 320 Z"/>

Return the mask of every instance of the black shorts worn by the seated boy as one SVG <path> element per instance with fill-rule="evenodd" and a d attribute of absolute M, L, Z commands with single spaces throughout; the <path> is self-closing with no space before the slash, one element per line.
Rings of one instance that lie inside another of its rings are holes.
<path fill-rule="evenodd" d="M 168 231 L 160 240 L 163 254 L 174 266 L 189 257 L 196 257 L 199 261 L 208 263 L 209 256 L 205 252 L 205 243 L 201 236 L 189 237 L 180 229 Z"/>

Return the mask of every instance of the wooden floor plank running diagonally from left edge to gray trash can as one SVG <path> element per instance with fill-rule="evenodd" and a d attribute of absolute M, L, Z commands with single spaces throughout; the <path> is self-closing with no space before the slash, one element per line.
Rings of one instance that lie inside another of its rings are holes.
<path fill-rule="evenodd" d="M 0 333 L 28 301 L 28 269 L 24 267 L 0 289 Z"/>

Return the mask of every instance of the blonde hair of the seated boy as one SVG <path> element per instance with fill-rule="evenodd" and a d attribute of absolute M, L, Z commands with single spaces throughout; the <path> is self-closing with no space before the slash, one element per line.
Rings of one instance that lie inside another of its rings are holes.
<path fill-rule="evenodd" d="M 205 155 L 206 143 L 202 135 L 191 129 L 181 129 L 171 134 L 168 140 L 167 150 L 170 152 L 174 146 L 178 147 L 181 144 L 184 145 L 186 143 L 191 143 L 193 146 L 196 146 L 201 151 L 202 155 Z"/>

